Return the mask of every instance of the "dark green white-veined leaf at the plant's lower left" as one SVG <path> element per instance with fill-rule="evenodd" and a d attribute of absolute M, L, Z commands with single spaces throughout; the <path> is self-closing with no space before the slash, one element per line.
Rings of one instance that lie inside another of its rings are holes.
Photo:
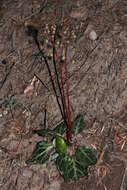
<path fill-rule="evenodd" d="M 43 164 L 49 160 L 50 154 L 54 150 L 53 144 L 46 141 L 37 143 L 35 150 L 32 153 L 32 158 L 27 163 Z"/>

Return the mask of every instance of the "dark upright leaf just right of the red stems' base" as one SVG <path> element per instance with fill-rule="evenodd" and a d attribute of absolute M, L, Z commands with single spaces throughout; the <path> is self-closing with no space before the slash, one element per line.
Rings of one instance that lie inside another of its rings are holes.
<path fill-rule="evenodd" d="M 85 128 L 85 122 L 82 115 L 78 115 L 72 123 L 72 133 L 77 135 L 81 133 Z"/>

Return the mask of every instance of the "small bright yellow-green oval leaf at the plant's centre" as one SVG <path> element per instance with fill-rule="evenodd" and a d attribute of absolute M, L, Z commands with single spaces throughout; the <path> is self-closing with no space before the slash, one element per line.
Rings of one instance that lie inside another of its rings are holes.
<path fill-rule="evenodd" d="M 60 155 L 64 155 L 67 151 L 67 144 L 60 135 L 55 138 L 55 147 Z"/>

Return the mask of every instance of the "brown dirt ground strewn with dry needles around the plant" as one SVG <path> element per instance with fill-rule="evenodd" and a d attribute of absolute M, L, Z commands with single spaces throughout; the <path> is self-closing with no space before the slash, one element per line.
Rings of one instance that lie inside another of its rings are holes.
<path fill-rule="evenodd" d="M 61 120 L 47 69 L 35 60 L 38 51 L 27 26 L 38 29 L 39 42 L 51 62 L 49 27 L 56 23 L 64 23 L 59 53 L 67 40 L 64 28 L 72 28 L 68 42 L 71 116 L 73 120 L 83 114 L 86 122 L 76 141 L 90 147 L 98 159 L 88 179 L 77 183 L 65 183 L 50 163 L 28 166 L 25 162 L 42 139 L 32 131 L 44 127 L 45 107 L 47 127 Z M 96 39 L 90 38 L 91 31 Z M 1 0 L 0 189 L 127 190 L 126 141 L 127 1 Z"/>

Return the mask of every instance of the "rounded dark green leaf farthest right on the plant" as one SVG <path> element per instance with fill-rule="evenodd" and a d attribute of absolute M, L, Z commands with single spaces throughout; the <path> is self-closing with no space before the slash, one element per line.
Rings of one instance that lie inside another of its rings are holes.
<path fill-rule="evenodd" d="M 96 156 L 92 152 L 91 149 L 80 146 L 75 153 L 76 160 L 83 166 L 88 167 L 90 165 L 94 165 L 97 162 Z"/>

